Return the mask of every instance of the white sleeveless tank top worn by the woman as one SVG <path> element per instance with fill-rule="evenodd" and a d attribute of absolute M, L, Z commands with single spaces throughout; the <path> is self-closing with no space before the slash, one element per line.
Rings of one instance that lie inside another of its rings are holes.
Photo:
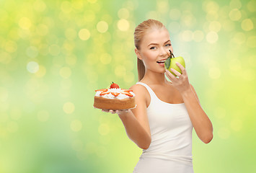
<path fill-rule="evenodd" d="M 151 97 L 147 107 L 151 144 L 148 149 L 143 150 L 140 161 L 144 158 L 156 158 L 192 166 L 193 125 L 185 104 L 163 102 L 147 84 L 137 84 L 145 86 Z"/>

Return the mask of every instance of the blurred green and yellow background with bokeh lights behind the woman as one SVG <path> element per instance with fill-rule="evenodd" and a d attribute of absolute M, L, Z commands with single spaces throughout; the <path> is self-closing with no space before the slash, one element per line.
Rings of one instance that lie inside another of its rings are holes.
<path fill-rule="evenodd" d="M 255 172 L 256 1 L 0 1 L 0 172 L 133 171 L 141 149 L 94 89 L 137 81 L 133 31 L 159 19 L 213 123 L 195 172 Z"/>

